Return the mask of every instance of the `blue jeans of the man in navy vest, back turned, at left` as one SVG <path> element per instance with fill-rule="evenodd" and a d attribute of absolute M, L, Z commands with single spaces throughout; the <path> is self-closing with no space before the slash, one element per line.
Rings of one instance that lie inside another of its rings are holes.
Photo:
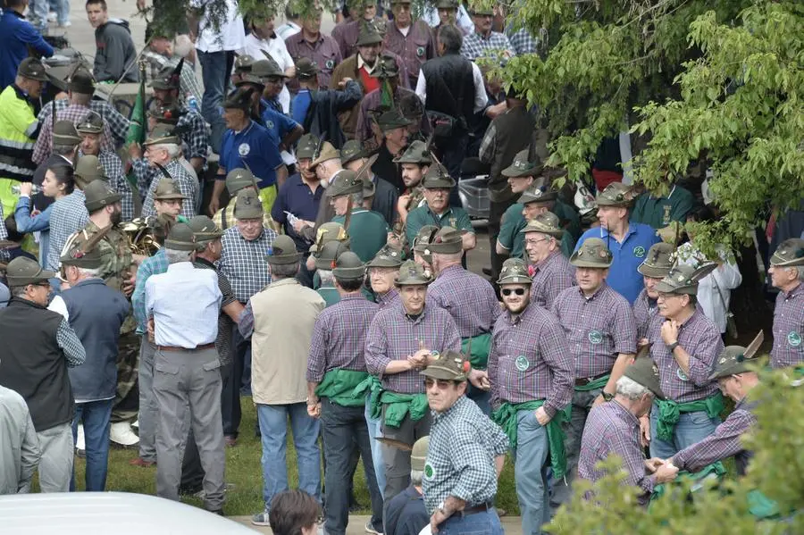
<path fill-rule="evenodd" d="M 109 470 L 109 431 L 112 429 L 113 399 L 75 404 L 72 419 L 72 443 L 78 439 L 78 423 L 84 423 L 84 440 L 87 447 L 88 491 L 103 492 L 106 487 L 106 472 Z M 70 490 L 75 490 L 75 472 L 70 481 Z"/>

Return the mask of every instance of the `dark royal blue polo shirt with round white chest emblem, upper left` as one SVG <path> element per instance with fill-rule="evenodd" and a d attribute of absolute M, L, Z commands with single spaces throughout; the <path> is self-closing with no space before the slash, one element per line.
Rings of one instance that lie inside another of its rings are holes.
<path fill-rule="evenodd" d="M 250 121 L 239 132 L 226 130 L 223 134 L 220 165 L 226 171 L 250 169 L 260 189 L 273 186 L 276 183 L 276 168 L 282 164 L 278 145 L 268 130 Z M 218 175 L 217 180 L 226 180 L 226 175 Z"/>

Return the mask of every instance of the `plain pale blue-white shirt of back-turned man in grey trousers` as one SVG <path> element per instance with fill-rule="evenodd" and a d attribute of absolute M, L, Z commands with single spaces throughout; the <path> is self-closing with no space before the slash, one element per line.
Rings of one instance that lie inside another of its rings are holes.
<path fill-rule="evenodd" d="M 172 263 L 146 282 L 146 313 L 154 317 L 157 346 L 193 349 L 218 336 L 221 311 L 218 277 L 192 263 Z"/>

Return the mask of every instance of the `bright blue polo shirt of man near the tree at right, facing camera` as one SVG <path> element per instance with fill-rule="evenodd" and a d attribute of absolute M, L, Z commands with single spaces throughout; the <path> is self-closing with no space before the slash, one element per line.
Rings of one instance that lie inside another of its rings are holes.
<path fill-rule="evenodd" d="M 577 251 L 581 247 L 586 238 L 601 238 L 607 242 L 614 260 L 608 270 L 606 281 L 610 287 L 615 288 L 633 305 L 642 288 L 645 288 L 642 275 L 637 268 L 645 260 L 649 248 L 661 239 L 650 225 L 633 222 L 628 225 L 628 232 L 625 234 L 623 243 L 619 243 L 615 238 L 607 239 L 607 237 L 608 230 L 602 227 L 587 230 L 581 235 L 575 245 L 575 250 Z"/>

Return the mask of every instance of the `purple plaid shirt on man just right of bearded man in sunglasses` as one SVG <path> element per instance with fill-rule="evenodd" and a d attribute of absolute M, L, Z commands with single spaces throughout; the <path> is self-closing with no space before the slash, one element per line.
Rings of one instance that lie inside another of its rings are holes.
<path fill-rule="evenodd" d="M 553 302 L 575 361 L 575 379 L 611 372 L 617 354 L 636 353 L 636 322 L 631 305 L 606 284 L 591 297 L 566 288 Z"/>

